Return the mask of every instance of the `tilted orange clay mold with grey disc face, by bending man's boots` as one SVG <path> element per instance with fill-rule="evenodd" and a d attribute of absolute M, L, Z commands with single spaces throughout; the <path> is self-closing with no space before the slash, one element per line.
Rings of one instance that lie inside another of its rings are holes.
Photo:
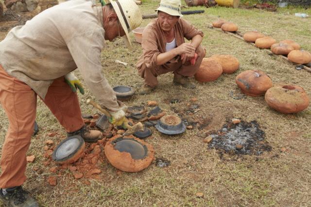
<path fill-rule="evenodd" d="M 68 137 L 59 143 L 52 154 L 52 159 L 59 164 L 69 164 L 78 160 L 84 153 L 85 142 L 79 135 Z"/>

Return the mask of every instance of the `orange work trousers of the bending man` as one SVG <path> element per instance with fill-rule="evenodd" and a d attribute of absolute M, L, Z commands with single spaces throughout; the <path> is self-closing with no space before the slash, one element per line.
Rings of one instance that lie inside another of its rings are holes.
<path fill-rule="evenodd" d="M 84 126 L 78 96 L 64 77 L 53 81 L 43 102 L 67 132 Z M 26 83 L 9 76 L 1 65 L 0 103 L 9 119 L 2 147 L 0 188 L 10 188 L 26 180 L 26 153 L 34 133 L 37 95 Z"/>

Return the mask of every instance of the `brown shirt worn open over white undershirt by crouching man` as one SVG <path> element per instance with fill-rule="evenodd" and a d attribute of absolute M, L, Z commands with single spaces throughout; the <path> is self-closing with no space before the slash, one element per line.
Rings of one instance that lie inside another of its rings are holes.
<path fill-rule="evenodd" d="M 187 22 L 185 19 L 179 18 L 174 26 L 174 36 L 176 40 L 177 47 L 185 43 L 185 39 L 192 39 L 195 35 L 201 35 L 203 37 L 203 32 L 197 30 L 193 25 Z M 153 68 L 156 66 L 156 57 L 166 52 L 166 39 L 163 31 L 160 28 L 160 23 L 158 18 L 152 20 L 142 32 L 142 55 L 140 56 L 136 66 L 138 69 L 142 64 L 146 64 L 147 68 Z M 169 61 L 171 63 L 177 62 L 177 58 Z M 165 66 L 165 65 L 163 65 Z"/>

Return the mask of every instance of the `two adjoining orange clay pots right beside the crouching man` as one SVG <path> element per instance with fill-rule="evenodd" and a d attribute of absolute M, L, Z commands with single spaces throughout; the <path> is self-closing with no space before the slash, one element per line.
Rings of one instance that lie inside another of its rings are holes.
<path fill-rule="evenodd" d="M 238 59 L 232 55 L 212 55 L 202 60 L 194 78 L 200 82 L 210 82 L 217 80 L 223 73 L 234 73 L 239 67 Z"/>

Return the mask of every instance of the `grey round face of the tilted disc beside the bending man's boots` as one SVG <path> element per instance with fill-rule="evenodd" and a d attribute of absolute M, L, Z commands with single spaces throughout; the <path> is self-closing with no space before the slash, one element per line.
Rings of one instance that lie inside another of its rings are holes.
<path fill-rule="evenodd" d="M 52 159 L 56 162 L 66 161 L 79 152 L 83 146 L 84 140 L 80 135 L 68 137 L 56 146 Z"/>

